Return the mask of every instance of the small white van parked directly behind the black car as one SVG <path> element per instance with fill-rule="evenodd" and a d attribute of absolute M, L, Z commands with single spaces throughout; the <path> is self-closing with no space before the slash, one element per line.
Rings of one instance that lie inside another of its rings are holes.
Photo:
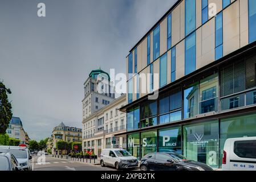
<path fill-rule="evenodd" d="M 100 165 L 114 166 L 117 170 L 120 168 L 135 168 L 138 167 L 138 160 L 129 152 L 123 149 L 111 148 L 103 149 L 100 155 Z"/>

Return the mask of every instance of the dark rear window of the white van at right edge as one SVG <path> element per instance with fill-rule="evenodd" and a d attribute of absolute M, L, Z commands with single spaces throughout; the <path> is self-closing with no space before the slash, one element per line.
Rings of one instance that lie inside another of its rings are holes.
<path fill-rule="evenodd" d="M 239 158 L 256 159 L 256 140 L 234 142 L 234 153 Z"/>

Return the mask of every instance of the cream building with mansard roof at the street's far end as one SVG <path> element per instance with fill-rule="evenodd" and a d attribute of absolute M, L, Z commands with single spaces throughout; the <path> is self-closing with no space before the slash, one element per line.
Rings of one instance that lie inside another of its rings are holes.
<path fill-rule="evenodd" d="M 52 154 L 63 154 L 66 151 L 60 151 L 56 148 L 56 143 L 58 141 L 70 142 L 82 142 L 82 129 L 76 127 L 65 126 L 64 123 L 60 123 L 58 126 L 54 127 L 52 131 L 53 137 L 53 147 Z"/>

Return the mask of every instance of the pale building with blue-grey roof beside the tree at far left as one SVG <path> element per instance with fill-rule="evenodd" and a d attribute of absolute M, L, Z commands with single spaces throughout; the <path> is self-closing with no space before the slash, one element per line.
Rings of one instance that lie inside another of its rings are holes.
<path fill-rule="evenodd" d="M 28 138 L 26 138 L 27 133 L 23 129 L 21 119 L 18 117 L 11 118 L 6 133 L 9 135 L 10 138 L 21 140 L 21 144 L 26 144 L 28 141 Z M 27 137 L 29 136 L 27 135 Z"/>

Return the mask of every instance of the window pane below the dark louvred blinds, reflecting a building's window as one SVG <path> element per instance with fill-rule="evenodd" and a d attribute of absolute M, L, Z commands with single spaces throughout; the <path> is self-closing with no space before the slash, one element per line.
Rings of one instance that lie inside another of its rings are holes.
<path fill-rule="evenodd" d="M 235 109 L 242 106 L 245 106 L 245 94 L 239 94 L 221 100 L 221 110 Z"/>

